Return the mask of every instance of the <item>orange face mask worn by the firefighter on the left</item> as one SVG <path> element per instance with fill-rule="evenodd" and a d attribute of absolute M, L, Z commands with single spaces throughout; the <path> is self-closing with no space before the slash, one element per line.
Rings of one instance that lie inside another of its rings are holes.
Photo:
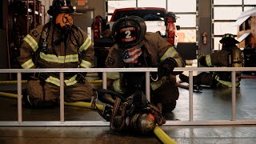
<path fill-rule="evenodd" d="M 73 25 L 73 18 L 70 14 L 61 13 L 57 15 L 55 24 L 60 27 L 61 30 L 70 30 Z"/>

